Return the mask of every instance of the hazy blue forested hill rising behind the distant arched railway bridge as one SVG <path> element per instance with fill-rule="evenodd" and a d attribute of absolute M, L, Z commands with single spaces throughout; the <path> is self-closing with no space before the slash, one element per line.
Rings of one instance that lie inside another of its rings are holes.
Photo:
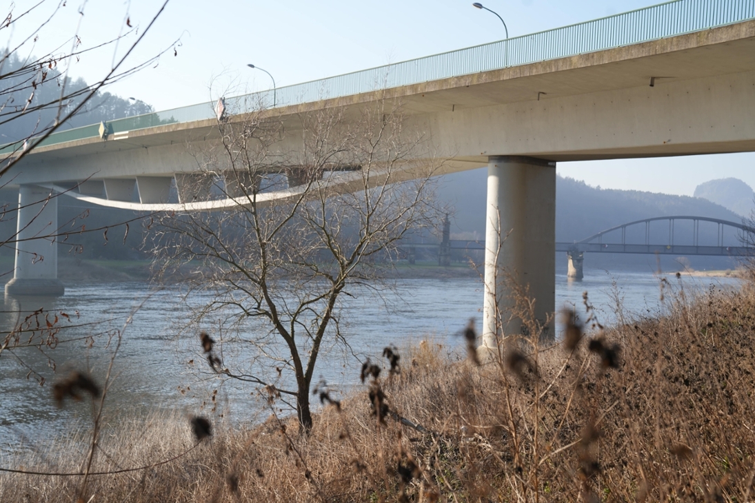
<path fill-rule="evenodd" d="M 487 168 L 442 177 L 439 198 L 455 208 L 451 233 L 458 238 L 485 236 L 486 179 Z M 741 222 L 741 216 L 702 198 L 599 189 L 575 179 L 556 179 L 556 241 L 580 240 L 633 220 L 671 215 Z"/>

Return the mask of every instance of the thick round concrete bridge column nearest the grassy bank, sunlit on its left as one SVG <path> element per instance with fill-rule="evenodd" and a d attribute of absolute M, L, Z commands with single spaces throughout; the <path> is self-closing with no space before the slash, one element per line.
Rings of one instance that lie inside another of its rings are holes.
<path fill-rule="evenodd" d="M 483 348 L 495 349 L 501 337 L 529 332 L 520 318 L 508 321 L 515 284 L 529 287 L 535 318 L 544 325 L 542 336 L 553 339 L 556 163 L 495 155 L 488 158 Z"/>

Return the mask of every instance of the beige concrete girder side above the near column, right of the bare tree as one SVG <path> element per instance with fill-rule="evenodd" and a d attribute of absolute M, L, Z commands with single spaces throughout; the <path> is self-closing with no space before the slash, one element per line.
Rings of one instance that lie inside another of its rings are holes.
<path fill-rule="evenodd" d="M 755 72 L 742 72 L 412 115 L 407 126 L 466 161 L 492 152 L 553 161 L 750 152 L 753 106 Z"/>

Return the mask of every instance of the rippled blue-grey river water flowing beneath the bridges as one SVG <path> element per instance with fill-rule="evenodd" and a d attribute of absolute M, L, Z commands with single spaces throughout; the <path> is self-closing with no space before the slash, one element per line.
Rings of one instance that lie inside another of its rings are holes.
<path fill-rule="evenodd" d="M 673 288 L 679 288 L 676 278 L 670 277 Z M 731 278 L 683 278 L 689 290 L 731 287 L 738 284 Z M 596 307 L 602 323 L 615 320 L 617 299 L 636 316 L 652 316 L 662 309 L 658 278 L 649 274 L 587 271 L 581 282 L 569 282 L 564 275 L 556 278 L 556 308 L 573 307 L 584 312 L 582 293 L 587 290 L 590 302 Z M 668 290 L 667 290 L 668 294 Z M 149 299 L 143 302 L 147 296 Z M 200 295 L 190 296 L 189 302 L 200 304 Z M 143 302 L 135 312 L 137 305 Z M 63 311 L 71 316 L 71 324 L 84 327 L 61 331 L 60 339 L 95 334 L 123 332 L 122 347 L 114 367 L 113 380 L 106 401 L 106 414 L 111 421 L 133 418 L 150 411 L 167 410 L 194 414 L 210 413 L 212 391 L 220 384 L 208 372 L 199 348 L 196 330 L 180 333 L 190 317 L 190 306 L 182 300 L 180 287 L 169 287 L 150 293 L 146 283 L 89 284 L 66 287 L 66 295 L 57 299 L 5 299 L 5 312 L 0 317 L 2 330 L 17 320 L 17 311 L 34 311 L 45 307 Z M 351 351 L 334 348 L 323 353 L 319 360 L 313 385 L 325 379 L 336 390 L 345 391 L 358 382 L 359 363 L 365 357 L 380 357 L 387 345 L 399 351 L 418 345 L 423 339 L 443 346 L 448 354 L 463 354 L 460 331 L 470 317 L 481 317 L 482 284 L 467 279 L 399 280 L 395 290 L 381 296 L 370 289 L 355 298 L 344 297 L 348 313 L 342 327 L 349 337 Z M 76 316 L 78 313 L 78 317 Z M 130 314 L 131 324 L 124 326 Z M 62 318 L 61 318 L 62 320 Z M 64 323 L 65 324 L 65 323 Z M 205 327 L 217 339 L 217 330 Z M 252 330 L 251 328 L 249 330 Z M 559 327 L 556 327 L 559 332 Z M 100 381 L 106 373 L 113 341 L 98 336 L 90 349 L 82 342 L 60 344 L 46 354 L 54 357 L 58 373 L 72 368 L 91 368 Z M 236 348 L 243 346 L 236 345 Z M 232 350 L 228 346 L 229 350 Z M 326 347 L 326 350 L 328 348 Z M 246 351 L 246 352 L 245 352 Z M 45 377 L 48 383 L 54 373 L 48 367 L 48 357 L 35 348 L 16 351 Z M 356 354 L 356 356 L 355 356 Z M 227 362 L 250 360 L 247 348 L 223 355 Z M 193 360 L 193 363 L 189 363 Z M 29 369 L 6 351 L 0 358 L 0 450 L 9 446 L 38 444 L 75 428 L 86 428 L 91 422 L 91 406 L 82 402 L 58 409 L 51 399 L 51 385 L 35 385 Z M 187 389 L 188 388 L 188 389 Z M 228 382 L 219 388 L 217 413 L 234 423 L 258 420 L 260 402 L 255 400 L 255 387 L 240 382 Z M 23 447 L 22 447 L 23 448 Z"/>

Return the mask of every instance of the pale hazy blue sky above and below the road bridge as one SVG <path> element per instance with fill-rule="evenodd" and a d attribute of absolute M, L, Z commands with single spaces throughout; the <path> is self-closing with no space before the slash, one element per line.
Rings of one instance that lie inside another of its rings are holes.
<path fill-rule="evenodd" d="M 0 31 L 0 43 L 20 43 L 58 5 L 47 0 L 12 30 Z M 592 20 L 655 5 L 652 0 L 488 0 L 501 14 L 510 36 Z M 32 0 L 15 2 L 14 16 Z M 156 66 L 110 87 L 165 110 L 264 90 L 270 77 L 249 69 L 254 63 L 270 72 L 278 87 L 395 63 L 504 38 L 498 17 L 473 8 L 467 0 L 170 0 L 168 7 L 131 55 L 137 63 L 164 48 L 171 50 Z M 8 8 L 10 2 L 6 3 Z M 146 28 L 162 0 L 68 0 L 39 34 L 35 47 L 20 54 L 43 54 L 67 42 L 79 20 L 82 47 L 113 38 L 132 26 Z M 8 8 L 10 11 L 10 9 Z M 79 15 L 83 10 L 83 17 Z M 173 42 L 180 39 L 175 46 Z M 72 76 L 96 81 L 111 66 L 116 51 L 106 48 L 72 64 Z M 592 186 L 692 195 L 698 183 L 734 176 L 755 186 L 755 154 L 695 156 L 621 161 L 562 163 L 559 173 Z"/>

